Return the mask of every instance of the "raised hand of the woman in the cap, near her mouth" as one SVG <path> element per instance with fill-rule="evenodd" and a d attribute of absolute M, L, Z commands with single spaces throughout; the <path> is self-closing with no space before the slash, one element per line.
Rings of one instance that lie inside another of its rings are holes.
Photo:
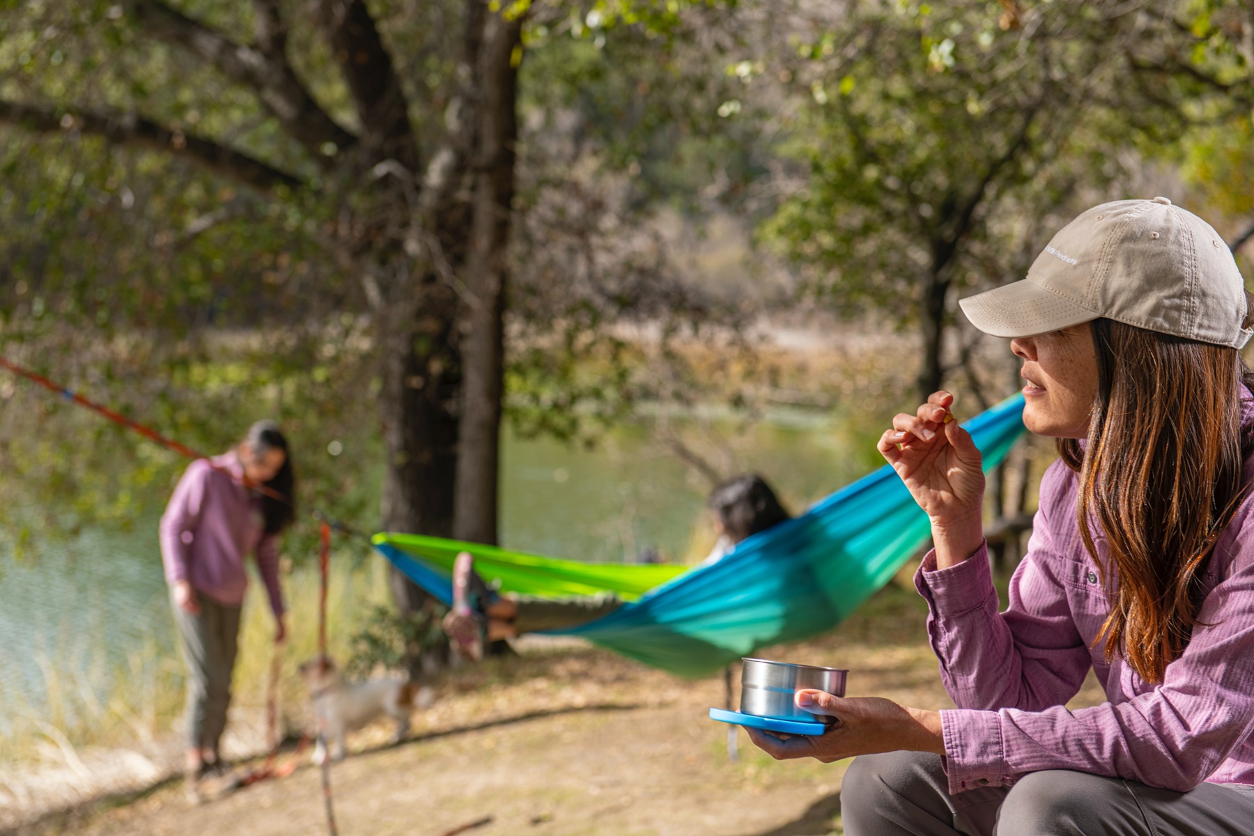
<path fill-rule="evenodd" d="M 983 541 L 983 459 L 949 412 L 952 405 L 953 395 L 933 392 L 914 415 L 893 417 L 878 445 L 932 520 L 942 569 L 966 560 Z"/>

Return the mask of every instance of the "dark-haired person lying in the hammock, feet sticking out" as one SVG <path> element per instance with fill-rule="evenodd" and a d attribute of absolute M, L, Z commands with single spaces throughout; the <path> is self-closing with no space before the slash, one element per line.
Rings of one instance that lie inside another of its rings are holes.
<path fill-rule="evenodd" d="M 719 539 L 698 568 L 721 560 L 750 535 L 791 519 L 771 486 L 756 474 L 722 483 L 710 493 L 707 506 Z M 463 551 L 453 564 L 453 608 L 444 617 L 444 630 L 463 656 L 478 661 L 484 639 L 576 627 L 622 605 L 623 600 L 612 593 L 572 598 L 502 595 L 484 583 L 474 570 L 474 558 Z"/>

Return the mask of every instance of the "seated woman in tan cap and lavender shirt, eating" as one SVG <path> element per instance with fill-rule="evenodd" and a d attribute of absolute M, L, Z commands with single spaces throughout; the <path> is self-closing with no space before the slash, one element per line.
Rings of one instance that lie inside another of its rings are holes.
<path fill-rule="evenodd" d="M 915 585 L 957 708 L 799 692 L 835 728 L 754 733 L 776 757 L 859 756 L 850 836 L 1251 832 L 1249 298 L 1215 231 L 1154 198 L 1088 209 L 1027 278 L 962 301 L 1023 360 L 1023 421 L 1060 459 L 998 612 L 953 396 L 880 439 L 932 520 Z M 1090 671 L 1107 702 L 1068 711 Z"/>

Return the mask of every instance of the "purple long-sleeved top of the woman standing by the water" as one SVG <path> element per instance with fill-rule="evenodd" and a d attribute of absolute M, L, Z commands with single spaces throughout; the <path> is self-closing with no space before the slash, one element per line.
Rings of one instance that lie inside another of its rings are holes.
<path fill-rule="evenodd" d="M 270 593 L 275 615 L 283 614 L 278 590 L 277 535 L 266 534 L 261 498 L 250 496 L 238 478 L 243 465 L 234 452 L 188 465 L 161 518 L 161 556 L 166 583 L 188 580 L 198 593 L 219 604 L 243 603 L 248 585 L 245 558 L 256 551 L 257 569 Z"/>

